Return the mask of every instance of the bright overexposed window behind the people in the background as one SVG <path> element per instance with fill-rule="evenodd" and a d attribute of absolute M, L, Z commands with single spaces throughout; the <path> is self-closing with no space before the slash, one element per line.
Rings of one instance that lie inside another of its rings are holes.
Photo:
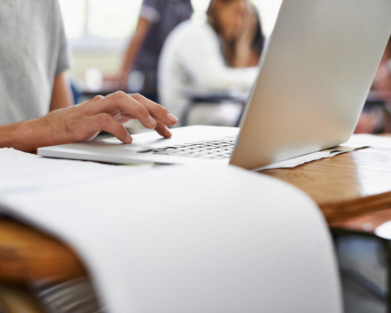
<path fill-rule="evenodd" d="M 268 36 L 282 0 L 252 0 Z M 118 51 L 134 31 L 142 0 L 60 0 L 65 31 L 75 50 Z M 194 19 L 202 20 L 209 0 L 192 0 Z"/>

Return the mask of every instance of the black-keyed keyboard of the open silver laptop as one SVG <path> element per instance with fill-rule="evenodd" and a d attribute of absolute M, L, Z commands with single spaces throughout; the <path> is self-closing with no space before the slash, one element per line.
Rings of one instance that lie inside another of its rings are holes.
<path fill-rule="evenodd" d="M 151 152 L 157 155 L 193 156 L 201 158 L 223 159 L 231 157 L 235 147 L 236 138 L 237 136 L 224 137 L 213 141 L 185 143 L 183 145 L 148 149 L 138 151 L 138 153 Z"/>

